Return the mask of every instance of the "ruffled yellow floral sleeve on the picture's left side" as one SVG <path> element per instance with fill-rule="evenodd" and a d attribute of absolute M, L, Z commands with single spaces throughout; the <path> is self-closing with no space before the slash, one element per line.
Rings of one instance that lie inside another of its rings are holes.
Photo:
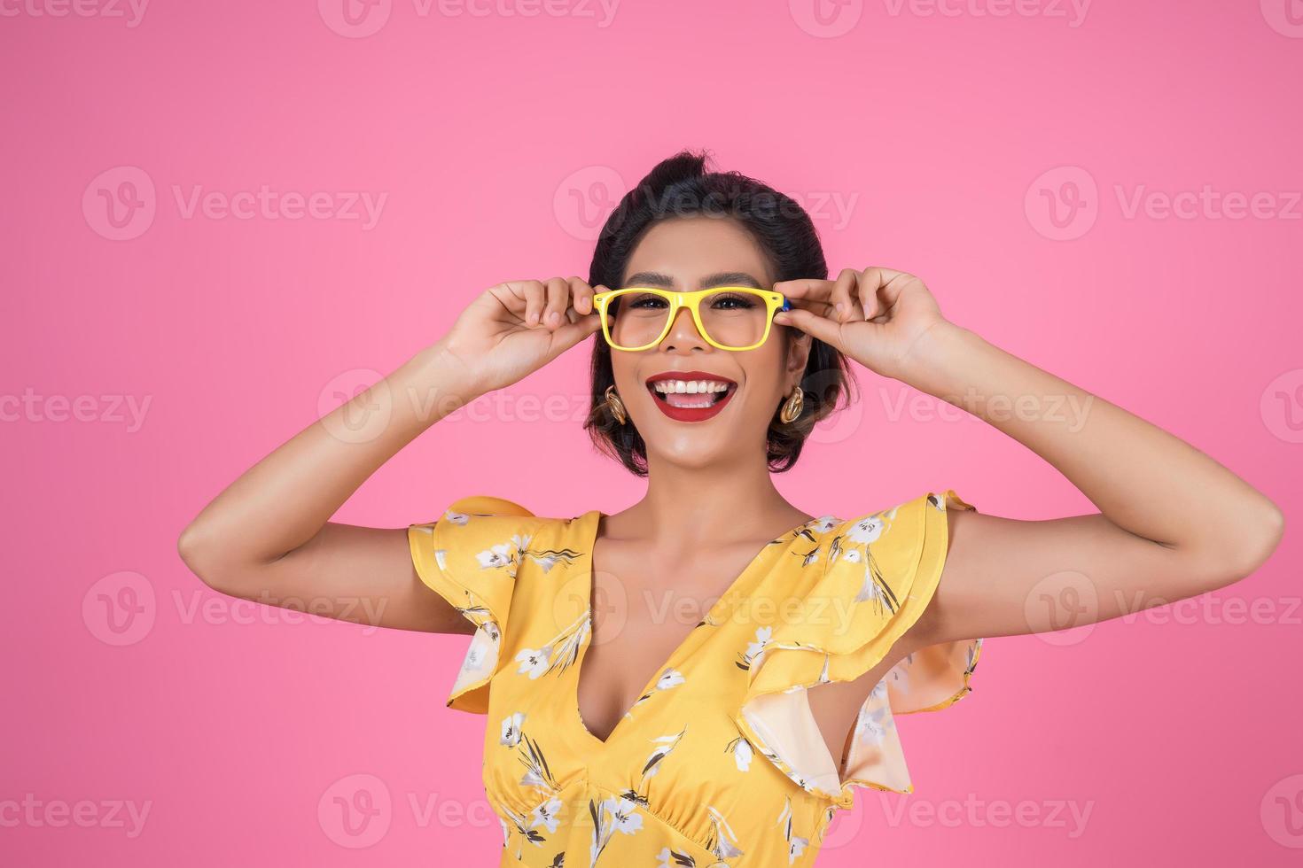
<path fill-rule="evenodd" d="M 516 571 L 529 545 L 521 518 L 533 513 L 500 497 L 463 497 L 442 518 L 408 527 L 417 575 L 476 626 L 447 705 L 489 712 L 489 679 L 498 668 Z"/>

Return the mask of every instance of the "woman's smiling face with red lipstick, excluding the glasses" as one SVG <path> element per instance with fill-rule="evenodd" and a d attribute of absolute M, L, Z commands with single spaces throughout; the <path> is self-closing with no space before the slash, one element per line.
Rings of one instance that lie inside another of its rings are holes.
<path fill-rule="evenodd" d="M 762 249 L 739 223 L 696 216 L 654 224 L 629 256 L 622 285 L 680 292 L 771 289 L 774 280 Z M 658 346 L 633 353 L 612 349 L 611 367 L 615 389 L 646 442 L 649 462 L 705 466 L 757 457 L 764 461 L 766 431 L 779 402 L 800 381 L 809 344 L 800 331 L 774 324 L 769 338 L 753 350 L 721 350 L 701 337 L 692 311 L 684 308 Z M 711 392 L 667 396 L 652 385 L 666 373 L 724 383 L 728 390 L 719 398 Z M 683 413 L 674 406 L 717 400 L 723 406 L 714 414 Z"/>

